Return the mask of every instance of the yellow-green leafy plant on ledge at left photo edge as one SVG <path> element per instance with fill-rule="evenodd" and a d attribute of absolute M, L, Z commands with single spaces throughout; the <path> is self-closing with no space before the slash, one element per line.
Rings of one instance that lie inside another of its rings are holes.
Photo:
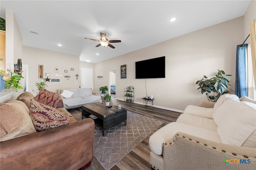
<path fill-rule="evenodd" d="M 0 78 L 1 78 L 1 89 L 14 89 L 17 91 L 18 89 L 23 89 L 23 87 L 20 86 L 20 79 L 22 79 L 21 74 L 14 73 L 10 69 L 7 69 L 9 71 L 8 73 L 5 73 L 3 70 L 0 70 Z"/>

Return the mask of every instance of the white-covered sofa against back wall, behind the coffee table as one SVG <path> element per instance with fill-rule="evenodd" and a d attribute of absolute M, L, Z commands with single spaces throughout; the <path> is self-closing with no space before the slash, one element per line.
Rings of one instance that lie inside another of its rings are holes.
<path fill-rule="evenodd" d="M 91 88 L 58 89 L 57 94 L 62 97 L 66 109 L 81 107 L 84 104 L 100 102 L 101 97 Z"/>

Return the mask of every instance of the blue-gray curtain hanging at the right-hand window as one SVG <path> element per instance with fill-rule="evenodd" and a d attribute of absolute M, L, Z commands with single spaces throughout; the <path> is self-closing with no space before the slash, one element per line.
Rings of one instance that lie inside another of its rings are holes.
<path fill-rule="evenodd" d="M 236 46 L 236 90 L 238 97 L 247 96 L 247 43 Z"/>

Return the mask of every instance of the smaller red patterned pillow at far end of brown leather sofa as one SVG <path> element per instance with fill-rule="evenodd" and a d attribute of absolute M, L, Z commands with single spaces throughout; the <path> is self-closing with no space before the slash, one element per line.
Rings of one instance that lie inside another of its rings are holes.
<path fill-rule="evenodd" d="M 58 102 L 60 101 L 60 96 L 46 89 L 41 89 L 34 99 L 43 105 L 56 108 Z"/>

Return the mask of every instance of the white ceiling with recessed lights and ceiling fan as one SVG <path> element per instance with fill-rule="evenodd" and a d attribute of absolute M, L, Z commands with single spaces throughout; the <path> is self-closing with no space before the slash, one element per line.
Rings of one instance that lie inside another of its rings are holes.
<path fill-rule="evenodd" d="M 97 63 L 244 16 L 250 0 L 0 1 L 14 12 L 25 46 L 80 56 Z M 176 17 L 175 22 L 170 18 Z M 28 30 L 38 32 L 38 35 Z M 100 32 L 116 48 L 95 47 Z M 62 47 L 58 47 L 58 43 Z M 99 55 L 96 55 L 99 53 Z"/>

